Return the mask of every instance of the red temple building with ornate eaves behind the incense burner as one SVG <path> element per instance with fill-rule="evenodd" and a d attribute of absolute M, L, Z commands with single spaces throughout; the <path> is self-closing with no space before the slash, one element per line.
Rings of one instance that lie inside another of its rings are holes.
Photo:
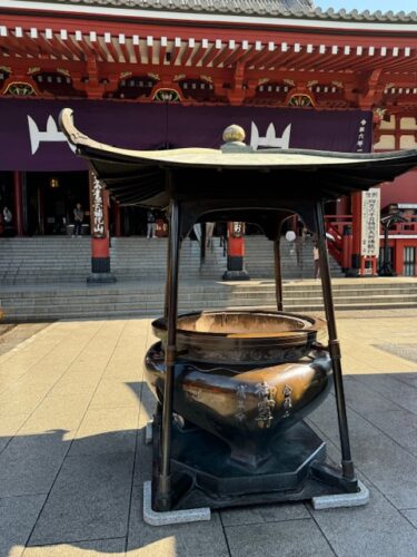
<path fill-rule="evenodd" d="M 0 235 L 67 234 L 77 203 L 90 213 L 91 176 L 59 129 L 64 107 L 90 137 L 127 148 L 217 148 L 238 124 L 254 149 L 365 154 L 417 148 L 416 76 L 416 12 L 321 11 L 311 0 L 2 0 Z M 344 270 L 375 274 L 384 260 L 386 271 L 417 275 L 416 179 L 413 170 L 380 194 L 326 206 Z M 103 206 L 105 236 L 146 234 L 146 211 L 128 197 Z M 384 251 L 379 219 L 389 215 Z"/>

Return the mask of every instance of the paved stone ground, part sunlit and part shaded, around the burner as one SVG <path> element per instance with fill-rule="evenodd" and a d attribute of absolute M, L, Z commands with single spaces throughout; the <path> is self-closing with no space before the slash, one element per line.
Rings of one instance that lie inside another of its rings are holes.
<path fill-rule="evenodd" d="M 56 322 L 0 355 L 0 556 L 416 557 L 417 364 L 407 358 L 417 311 L 339 317 L 367 507 L 272 505 L 215 512 L 210 522 L 145 525 L 149 321 Z M 332 395 L 310 423 L 338 459 Z"/>

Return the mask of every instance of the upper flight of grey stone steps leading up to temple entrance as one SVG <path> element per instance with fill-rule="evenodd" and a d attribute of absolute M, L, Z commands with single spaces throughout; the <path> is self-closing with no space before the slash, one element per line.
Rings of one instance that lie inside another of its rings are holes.
<path fill-rule="evenodd" d="M 272 244 L 262 237 L 247 237 L 247 270 L 254 277 L 274 276 Z M 281 242 L 282 276 L 285 278 L 312 277 L 312 247 L 306 242 L 301 265 L 288 242 Z M 143 237 L 112 238 L 111 270 L 118 280 L 143 280 L 151 274 L 166 276 L 167 240 L 149 241 Z M 33 237 L 0 240 L 0 278 L 3 284 L 41 284 L 85 282 L 90 273 L 90 238 Z M 219 240 L 206 251 L 206 262 L 200 266 L 200 247 L 197 242 L 182 243 L 180 276 L 182 278 L 221 278 L 227 258 Z M 332 265 L 332 275 L 340 275 Z"/>

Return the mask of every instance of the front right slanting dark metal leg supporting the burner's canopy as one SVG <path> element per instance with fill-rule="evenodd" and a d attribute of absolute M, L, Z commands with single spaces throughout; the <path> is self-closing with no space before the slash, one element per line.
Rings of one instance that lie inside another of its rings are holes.
<path fill-rule="evenodd" d="M 316 208 L 315 213 L 317 223 L 322 297 L 325 302 L 327 329 L 329 335 L 329 351 L 330 351 L 334 379 L 335 379 L 337 417 L 339 422 L 340 448 L 341 448 L 341 469 L 345 478 L 354 479 L 355 469 L 350 455 L 350 442 L 349 442 L 349 430 L 346 416 L 344 381 L 341 377 L 341 362 L 340 362 L 341 354 L 340 354 L 339 341 L 337 339 L 335 306 L 331 293 L 330 265 L 326 245 L 325 215 L 322 209 L 322 203 L 317 202 L 315 208 Z"/>

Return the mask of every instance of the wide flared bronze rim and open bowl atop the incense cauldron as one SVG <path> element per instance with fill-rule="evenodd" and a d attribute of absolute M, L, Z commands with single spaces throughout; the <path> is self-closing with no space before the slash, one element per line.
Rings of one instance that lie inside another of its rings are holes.
<path fill-rule="evenodd" d="M 193 362 L 214 364 L 272 364 L 295 362 L 308 354 L 325 321 L 260 310 L 206 311 L 178 316 L 177 346 Z M 167 322 L 152 323 L 167 341 Z"/>

